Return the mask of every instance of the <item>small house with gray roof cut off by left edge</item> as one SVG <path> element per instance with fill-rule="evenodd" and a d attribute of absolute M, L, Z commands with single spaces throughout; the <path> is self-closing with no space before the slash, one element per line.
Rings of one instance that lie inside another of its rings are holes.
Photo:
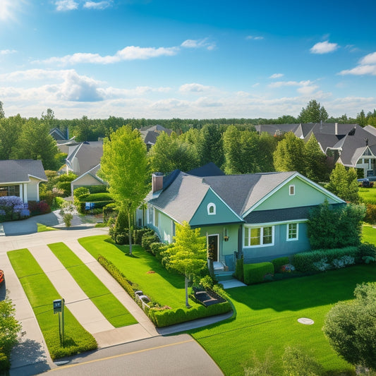
<path fill-rule="evenodd" d="M 41 161 L 0 161 L 0 196 L 17 196 L 24 203 L 40 200 L 40 182 L 47 181 Z"/>

